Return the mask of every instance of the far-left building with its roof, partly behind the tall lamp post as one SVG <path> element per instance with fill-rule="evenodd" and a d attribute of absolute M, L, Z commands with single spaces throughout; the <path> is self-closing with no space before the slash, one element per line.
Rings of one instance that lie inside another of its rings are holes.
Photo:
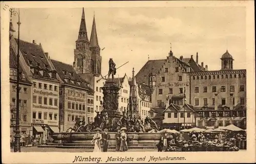
<path fill-rule="evenodd" d="M 17 88 L 17 58 L 12 45 L 10 44 L 10 114 L 11 114 L 11 135 L 15 131 L 16 123 L 16 88 Z M 27 73 L 22 66 L 19 65 L 19 124 L 20 132 L 23 134 L 29 134 L 31 129 L 31 108 L 32 108 L 32 83 L 29 77 L 29 72 Z"/>

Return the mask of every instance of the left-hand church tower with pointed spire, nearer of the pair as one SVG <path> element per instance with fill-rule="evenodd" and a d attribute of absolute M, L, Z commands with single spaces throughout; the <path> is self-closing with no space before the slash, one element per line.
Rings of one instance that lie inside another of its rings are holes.
<path fill-rule="evenodd" d="M 90 51 L 90 42 L 87 35 L 86 19 L 84 9 L 82 8 L 80 29 L 78 39 L 76 40 L 76 49 L 74 49 L 73 67 L 77 74 L 91 72 L 91 55 L 92 52 Z"/>

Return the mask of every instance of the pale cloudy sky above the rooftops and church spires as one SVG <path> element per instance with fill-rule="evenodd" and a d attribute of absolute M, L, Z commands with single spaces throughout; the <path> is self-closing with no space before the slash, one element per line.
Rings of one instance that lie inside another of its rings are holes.
<path fill-rule="evenodd" d="M 20 39 L 41 43 L 51 59 L 73 64 L 81 8 L 20 9 Z M 233 69 L 246 69 L 245 7 L 133 7 L 86 8 L 88 38 L 95 13 L 102 56 L 102 75 L 113 58 L 116 76 L 132 76 L 150 60 L 166 59 L 172 43 L 174 56 L 190 58 L 208 70 L 221 69 L 221 56 L 228 49 Z M 17 31 L 17 17 L 12 18 Z M 17 36 L 15 34 L 15 36 Z"/>

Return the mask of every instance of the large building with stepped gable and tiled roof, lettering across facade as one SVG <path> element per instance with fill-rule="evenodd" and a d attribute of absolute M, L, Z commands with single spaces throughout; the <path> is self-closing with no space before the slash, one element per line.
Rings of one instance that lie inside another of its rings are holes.
<path fill-rule="evenodd" d="M 198 64 L 198 53 L 196 61 L 190 58 L 176 58 L 169 52 L 165 60 L 149 60 L 137 73 L 138 83 L 150 86 L 152 92 L 152 106 L 165 106 L 166 96 L 169 103 L 183 105 L 184 93 L 189 95 L 189 80 L 187 72 L 206 71 L 203 63 Z"/>

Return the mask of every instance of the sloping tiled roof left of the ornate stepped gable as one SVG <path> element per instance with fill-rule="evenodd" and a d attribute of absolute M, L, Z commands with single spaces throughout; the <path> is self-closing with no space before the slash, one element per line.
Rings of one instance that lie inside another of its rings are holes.
<path fill-rule="evenodd" d="M 151 72 L 157 74 L 158 71 L 160 71 L 160 69 L 162 68 L 162 65 L 165 63 L 165 61 L 165 59 L 147 61 L 146 64 L 140 69 L 140 71 L 135 76 L 137 83 L 148 84 L 148 74 L 150 74 Z"/>

